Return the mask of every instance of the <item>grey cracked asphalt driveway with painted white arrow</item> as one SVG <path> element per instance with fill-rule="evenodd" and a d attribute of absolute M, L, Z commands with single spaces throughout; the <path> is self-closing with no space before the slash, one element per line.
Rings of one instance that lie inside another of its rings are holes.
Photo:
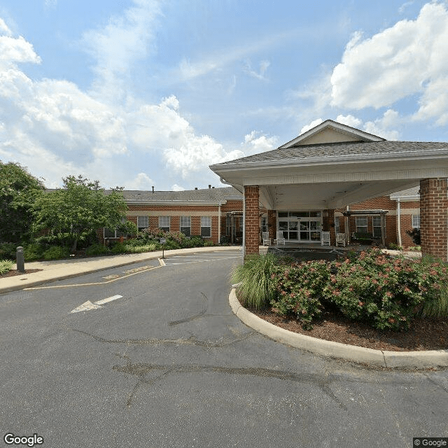
<path fill-rule="evenodd" d="M 353 365 L 241 323 L 228 304 L 240 254 L 0 295 L 0 447 L 6 433 L 37 433 L 43 447 L 401 448 L 448 437 L 448 370 Z"/>

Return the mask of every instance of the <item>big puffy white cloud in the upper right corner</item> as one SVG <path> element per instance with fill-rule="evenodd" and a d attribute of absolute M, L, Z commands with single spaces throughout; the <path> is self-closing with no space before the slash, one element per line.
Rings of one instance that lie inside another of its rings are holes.
<path fill-rule="evenodd" d="M 418 94 L 414 118 L 447 123 L 447 42 L 448 11 L 437 2 L 424 5 L 416 20 L 401 20 L 371 38 L 354 34 L 332 72 L 331 104 L 378 109 Z"/>

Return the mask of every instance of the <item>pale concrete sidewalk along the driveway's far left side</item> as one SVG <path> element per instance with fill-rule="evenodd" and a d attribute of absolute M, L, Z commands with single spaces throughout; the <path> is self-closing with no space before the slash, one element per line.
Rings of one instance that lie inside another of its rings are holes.
<path fill-rule="evenodd" d="M 174 249 L 165 251 L 165 257 L 170 255 L 186 255 L 187 253 L 235 251 L 240 246 L 210 246 Z M 161 258 L 162 251 L 145 253 L 127 253 L 124 255 L 107 255 L 103 257 L 78 258 L 76 260 L 52 260 L 25 262 L 25 269 L 42 269 L 31 274 L 22 274 L 0 279 L 0 294 L 13 290 L 30 288 L 50 281 L 69 279 L 71 277 L 103 271 L 111 267 L 132 265 L 146 260 Z"/>

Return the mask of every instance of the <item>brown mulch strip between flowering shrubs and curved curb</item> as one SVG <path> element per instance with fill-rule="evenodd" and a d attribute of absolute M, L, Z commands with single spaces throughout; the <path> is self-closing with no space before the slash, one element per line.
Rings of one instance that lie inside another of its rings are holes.
<path fill-rule="evenodd" d="M 407 332 L 380 331 L 350 321 L 334 311 L 325 312 L 312 330 L 304 330 L 293 318 L 278 316 L 270 310 L 250 309 L 253 314 L 281 328 L 319 339 L 342 342 L 368 349 L 421 351 L 448 349 L 448 318 L 415 319 Z"/>

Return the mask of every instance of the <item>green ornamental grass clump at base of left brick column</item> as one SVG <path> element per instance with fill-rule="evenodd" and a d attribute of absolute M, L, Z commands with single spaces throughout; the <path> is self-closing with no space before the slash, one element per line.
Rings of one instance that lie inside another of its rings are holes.
<path fill-rule="evenodd" d="M 272 253 L 248 255 L 243 265 L 232 272 L 232 281 L 240 283 L 237 294 L 245 307 L 262 309 L 269 305 L 275 289 L 271 280 L 277 258 Z"/>

